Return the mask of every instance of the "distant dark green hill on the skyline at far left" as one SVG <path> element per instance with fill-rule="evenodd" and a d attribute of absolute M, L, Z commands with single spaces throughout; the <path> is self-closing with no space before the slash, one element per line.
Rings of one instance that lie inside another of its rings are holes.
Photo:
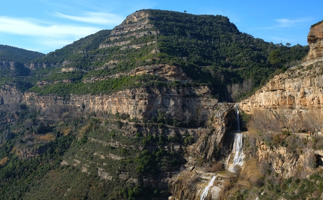
<path fill-rule="evenodd" d="M 44 56 L 44 53 L 17 48 L 14 46 L 0 44 L 0 60 L 1 61 L 15 61 L 20 63 L 29 62 L 37 57 Z"/>

